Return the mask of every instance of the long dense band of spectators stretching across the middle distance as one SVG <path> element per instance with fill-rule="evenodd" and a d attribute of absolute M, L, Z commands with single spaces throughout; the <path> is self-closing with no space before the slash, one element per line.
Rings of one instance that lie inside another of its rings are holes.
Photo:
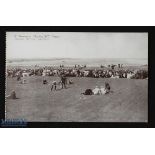
<path fill-rule="evenodd" d="M 108 67 L 100 66 L 100 68 L 91 69 L 84 66 L 74 67 L 37 67 L 37 68 L 12 68 L 7 69 L 7 77 L 17 77 L 20 80 L 25 76 L 60 76 L 66 77 L 92 77 L 92 78 L 129 78 L 129 79 L 146 79 L 148 78 L 148 70 L 146 69 L 126 69 L 122 65 L 108 65 Z"/>

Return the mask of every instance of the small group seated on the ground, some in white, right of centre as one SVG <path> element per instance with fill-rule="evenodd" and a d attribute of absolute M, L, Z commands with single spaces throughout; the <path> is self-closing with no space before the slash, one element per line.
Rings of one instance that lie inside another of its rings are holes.
<path fill-rule="evenodd" d="M 111 92 L 109 83 L 105 82 L 105 86 L 98 87 L 96 86 L 94 89 L 86 89 L 83 95 L 104 95 Z"/>

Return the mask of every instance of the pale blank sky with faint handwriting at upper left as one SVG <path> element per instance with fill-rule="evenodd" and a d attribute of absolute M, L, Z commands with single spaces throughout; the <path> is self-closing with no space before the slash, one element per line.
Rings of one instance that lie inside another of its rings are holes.
<path fill-rule="evenodd" d="M 6 58 L 148 58 L 148 33 L 7 32 Z"/>

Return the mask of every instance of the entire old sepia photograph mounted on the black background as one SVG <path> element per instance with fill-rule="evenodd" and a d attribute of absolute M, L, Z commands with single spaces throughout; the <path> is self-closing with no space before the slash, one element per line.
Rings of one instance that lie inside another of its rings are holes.
<path fill-rule="evenodd" d="M 5 118 L 148 122 L 148 33 L 6 32 Z"/>

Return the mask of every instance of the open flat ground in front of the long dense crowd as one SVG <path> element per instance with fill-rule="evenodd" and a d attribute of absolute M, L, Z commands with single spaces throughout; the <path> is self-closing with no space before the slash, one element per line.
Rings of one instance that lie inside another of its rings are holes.
<path fill-rule="evenodd" d="M 59 80 L 47 77 L 48 81 Z M 67 89 L 50 91 L 42 77 L 28 77 L 27 84 L 7 78 L 6 94 L 16 91 L 18 99 L 6 99 L 6 118 L 29 122 L 147 122 L 148 80 L 71 78 Z M 107 81 L 113 93 L 81 95 L 87 88 Z"/>

